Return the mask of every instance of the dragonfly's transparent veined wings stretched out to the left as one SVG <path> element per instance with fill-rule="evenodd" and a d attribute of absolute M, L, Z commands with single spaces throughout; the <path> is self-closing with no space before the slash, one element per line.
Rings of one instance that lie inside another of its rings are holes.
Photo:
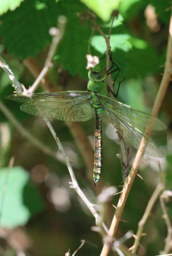
<path fill-rule="evenodd" d="M 31 115 L 79 122 L 94 115 L 88 92 L 35 93 L 33 97 L 9 95 L 7 99 L 23 102 L 20 109 Z"/>

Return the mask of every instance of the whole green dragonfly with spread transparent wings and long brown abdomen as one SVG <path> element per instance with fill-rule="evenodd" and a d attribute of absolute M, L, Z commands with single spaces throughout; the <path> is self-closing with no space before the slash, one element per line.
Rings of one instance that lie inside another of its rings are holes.
<path fill-rule="evenodd" d="M 95 161 L 93 181 L 98 185 L 102 170 L 102 114 L 105 113 L 116 130 L 133 147 L 138 148 L 143 136 L 148 141 L 146 154 L 163 157 L 160 148 L 143 132 L 146 122 L 155 122 L 154 130 L 165 129 L 164 123 L 154 116 L 131 108 L 116 99 L 107 97 L 106 79 L 109 70 L 96 66 L 88 72 L 86 92 L 67 91 L 54 93 L 35 93 L 32 97 L 9 95 L 10 100 L 22 102 L 20 109 L 31 115 L 43 118 L 54 118 L 70 122 L 82 122 L 95 116 Z"/>

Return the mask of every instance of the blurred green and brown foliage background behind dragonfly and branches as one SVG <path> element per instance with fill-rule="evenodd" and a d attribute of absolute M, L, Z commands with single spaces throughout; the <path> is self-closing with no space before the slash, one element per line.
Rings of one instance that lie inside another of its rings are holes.
<path fill-rule="evenodd" d="M 54 56 L 49 81 L 56 91 L 86 90 L 88 71 L 85 56 L 88 54 L 92 26 L 91 22 L 84 22 L 81 13 L 88 8 L 97 15 L 96 22 L 104 33 L 108 32 L 111 25 L 111 12 L 118 8 L 118 20 L 114 21 L 111 33 L 111 50 L 114 61 L 121 69 L 119 79 L 126 77 L 121 84 L 118 100 L 149 112 L 166 60 L 171 13 L 171 3 L 168 0 L 1 0 L 1 61 L 7 63 L 20 83 L 28 88 L 35 78 L 29 72 L 27 63 L 32 60 L 36 63 L 35 67 L 43 68 L 51 43 L 49 29 L 56 26 L 58 16 L 63 14 L 68 22 L 65 36 Z M 92 55 L 99 57 L 106 51 L 104 38 L 98 31 L 93 34 L 90 49 Z M 43 92 L 43 88 L 40 87 L 38 91 Z M 54 151 L 58 150 L 42 118 L 22 113 L 20 104 L 4 99 L 12 92 L 8 76 L 0 70 L 0 99 L 6 108 L 44 145 Z M 118 237 L 122 237 L 127 230 L 136 233 L 138 221 L 159 182 L 158 163 L 166 175 L 166 189 L 171 189 L 171 93 L 169 86 L 159 113 L 168 130 L 153 134 L 153 140 L 162 148 L 165 157 L 144 157 L 139 168 L 143 180 L 137 178 L 132 186 L 122 216 L 127 222 L 120 223 Z M 53 120 L 52 125 L 66 154 L 74 159 L 72 164 L 75 175 L 91 202 L 96 202 L 96 196 L 103 186 L 117 187 L 123 184 L 120 159 L 116 158 L 120 147 L 116 132 L 106 116 L 103 120 L 103 172 L 98 189 L 94 189 L 87 178 L 81 152 L 65 122 Z M 81 125 L 93 143 L 93 120 Z M 130 148 L 130 163 L 135 153 L 136 150 Z M 15 167 L 8 171 L 7 166 L 12 156 L 15 157 Z M 95 220 L 75 191 L 68 188 L 68 170 L 61 155 L 58 156 L 59 161 L 56 161 L 33 146 L 13 127 L 0 109 L 0 224 L 5 228 L 1 232 L 2 255 L 16 255 L 21 250 L 26 255 L 65 255 L 68 248 L 71 253 L 74 252 L 81 239 L 91 243 L 85 244 L 77 255 L 100 254 L 101 237 L 90 229 L 95 225 Z M 114 214 L 112 205 L 116 205 L 118 198 L 119 196 L 114 196 L 113 201 L 106 205 L 107 225 L 111 223 Z M 169 216 L 172 216 L 170 202 L 168 207 Z M 143 247 L 139 248 L 138 255 L 159 254 L 164 248 L 167 234 L 159 202 L 146 223 L 145 232 L 147 236 L 141 240 Z M 126 244 L 132 246 L 133 242 L 130 239 Z"/>

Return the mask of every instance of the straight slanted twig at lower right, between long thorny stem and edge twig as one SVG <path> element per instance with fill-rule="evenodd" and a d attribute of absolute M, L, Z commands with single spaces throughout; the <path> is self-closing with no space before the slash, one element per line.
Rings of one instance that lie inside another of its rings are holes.
<path fill-rule="evenodd" d="M 145 223 L 148 220 L 148 217 L 150 216 L 150 213 L 152 212 L 153 206 L 157 202 L 157 200 L 158 200 L 160 194 L 162 193 L 162 191 L 164 190 L 164 188 L 165 188 L 164 184 L 159 183 L 157 185 L 157 188 L 155 188 L 155 191 L 153 192 L 153 194 L 148 202 L 148 205 L 145 209 L 145 213 L 143 214 L 142 219 L 139 221 L 139 227 L 137 229 L 136 239 L 134 241 L 132 253 L 136 253 L 136 251 L 137 251 L 141 236 L 143 234 L 143 228 L 145 227 Z"/>

